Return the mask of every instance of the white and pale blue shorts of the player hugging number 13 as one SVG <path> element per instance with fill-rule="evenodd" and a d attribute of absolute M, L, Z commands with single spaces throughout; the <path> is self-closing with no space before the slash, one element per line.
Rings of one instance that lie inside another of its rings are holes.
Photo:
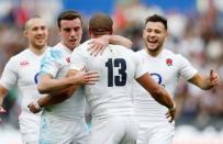
<path fill-rule="evenodd" d="M 42 115 L 40 144 L 87 144 L 88 126 L 85 118 L 62 120 Z"/>

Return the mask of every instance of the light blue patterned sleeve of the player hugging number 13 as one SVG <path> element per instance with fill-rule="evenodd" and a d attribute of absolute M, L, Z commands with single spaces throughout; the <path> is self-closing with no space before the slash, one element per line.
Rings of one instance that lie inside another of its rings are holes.
<path fill-rule="evenodd" d="M 63 55 L 59 51 L 48 51 L 41 60 L 40 76 L 48 74 L 56 77 L 59 68 L 62 67 L 62 64 L 59 63 L 60 58 L 63 58 Z"/>

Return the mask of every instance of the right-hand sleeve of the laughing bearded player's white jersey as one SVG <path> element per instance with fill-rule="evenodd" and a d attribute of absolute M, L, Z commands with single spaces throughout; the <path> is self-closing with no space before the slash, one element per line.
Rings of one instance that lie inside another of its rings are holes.
<path fill-rule="evenodd" d="M 186 80 L 189 80 L 198 73 L 190 62 L 181 55 L 179 55 L 179 67 L 180 76 L 182 76 Z"/>

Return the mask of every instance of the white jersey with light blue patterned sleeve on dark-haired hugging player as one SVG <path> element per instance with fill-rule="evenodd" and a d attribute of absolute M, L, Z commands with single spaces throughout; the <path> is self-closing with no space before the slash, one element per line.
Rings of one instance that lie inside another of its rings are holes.
<path fill-rule="evenodd" d="M 55 45 L 44 56 L 41 63 L 41 75 L 49 74 L 55 79 L 65 77 L 69 70 L 71 51 L 62 43 Z M 85 97 L 82 88 L 78 90 L 67 100 L 62 103 L 46 107 L 44 113 L 58 119 L 76 120 L 85 117 Z"/>

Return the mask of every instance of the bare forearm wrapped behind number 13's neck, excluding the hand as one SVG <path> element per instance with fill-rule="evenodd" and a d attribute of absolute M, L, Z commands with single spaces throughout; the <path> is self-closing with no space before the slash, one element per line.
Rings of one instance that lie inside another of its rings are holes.
<path fill-rule="evenodd" d="M 123 45 L 127 48 L 132 47 L 132 41 L 130 41 L 126 37 L 123 37 L 121 35 L 109 35 L 109 43 L 110 44 L 118 44 L 118 45 Z"/>

